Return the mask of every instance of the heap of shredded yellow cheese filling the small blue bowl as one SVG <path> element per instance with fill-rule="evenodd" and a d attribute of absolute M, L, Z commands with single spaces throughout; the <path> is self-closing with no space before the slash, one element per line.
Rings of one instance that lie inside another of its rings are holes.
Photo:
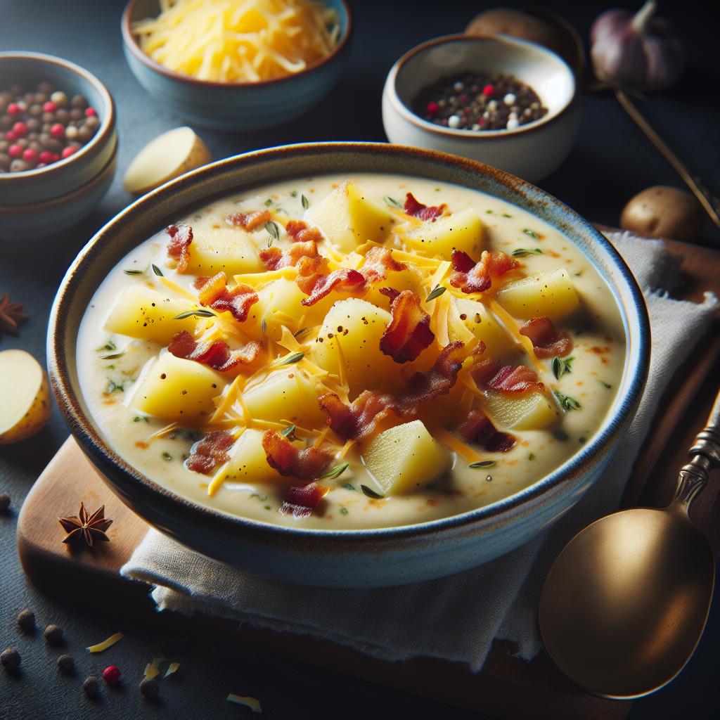
<path fill-rule="evenodd" d="M 310 0 L 161 0 L 132 26 L 140 48 L 199 80 L 253 83 L 299 73 L 338 42 L 334 9 Z"/>

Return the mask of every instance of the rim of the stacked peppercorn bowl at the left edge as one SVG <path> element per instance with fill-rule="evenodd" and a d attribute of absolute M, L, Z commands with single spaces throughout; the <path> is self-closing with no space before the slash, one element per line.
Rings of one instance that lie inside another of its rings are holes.
<path fill-rule="evenodd" d="M 67 158 L 60 158 L 56 163 L 51 163 L 44 168 L 32 168 L 32 170 L 25 170 L 22 173 L 2 173 L 0 174 L 0 187 L 5 182 L 7 184 L 11 182 L 24 182 L 30 183 L 38 177 L 48 177 L 51 174 L 59 174 L 63 171 L 63 168 L 71 166 L 75 161 L 89 155 L 99 145 L 104 145 L 107 140 L 112 138 L 112 134 L 115 127 L 115 103 L 112 99 L 112 95 L 106 86 L 96 76 L 93 75 L 89 70 L 71 62 L 71 60 L 65 60 L 64 58 L 58 58 L 56 55 L 47 55 L 46 53 L 31 53 L 25 50 L 0 50 L 0 63 L 6 59 L 15 60 L 38 60 L 41 63 L 48 63 L 49 65 L 55 65 L 63 70 L 80 76 L 87 83 L 91 84 L 94 89 L 102 97 L 104 103 L 103 116 L 100 119 L 100 127 L 89 143 L 85 143 L 79 150 L 73 153 Z M 55 198 L 51 198 L 55 199 Z"/>

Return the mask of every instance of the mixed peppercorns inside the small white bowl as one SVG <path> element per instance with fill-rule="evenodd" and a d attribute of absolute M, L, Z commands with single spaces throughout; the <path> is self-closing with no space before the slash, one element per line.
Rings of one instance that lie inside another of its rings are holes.
<path fill-rule="evenodd" d="M 547 114 L 530 86 L 504 73 L 465 71 L 420 91 L 413 112 L 454 130 L 514 130 Z"/>

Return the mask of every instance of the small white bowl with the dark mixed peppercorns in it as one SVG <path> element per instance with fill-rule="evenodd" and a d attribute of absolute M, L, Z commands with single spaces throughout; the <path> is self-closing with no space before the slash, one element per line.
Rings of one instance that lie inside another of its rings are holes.
<path fill-rule="evenodd" d="M 580 102 L 570 66 L 507 35 L 447 35 L 392 66 L 382 94 L 391 143 L 441 150 L 537 182 L 570 153 Z"/>

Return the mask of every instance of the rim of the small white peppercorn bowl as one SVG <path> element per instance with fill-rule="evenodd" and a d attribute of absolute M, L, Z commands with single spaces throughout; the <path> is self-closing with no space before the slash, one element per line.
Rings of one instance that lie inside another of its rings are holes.
<path fill-rule="evenodd" d="M 570 78 L 570 81 L 572 83 L 572 93 L 570 94 L 570 99 L 568 99 L 567 102 L 555 112 L 548 113 L 543 117 L 540 117 L 538 120 L 533 120 L 532 122 L 528 122 L 525 125 L 518 125 L 518 127 L 510 130 L 508 130 L 507 127 L 499 128 L 498 130 L 461 130 L 459 128 L 436 125 L 434 122 L 428 122 L 428 120 L 423 120 L 422 117 L 420 117 L 418 114 L 415 114 L 415 112 L 413 112 L 413 110 L 410 109 L 404 102 L 402 102 L 402 99 L 400 99 L 400 95 L 397 93 L 397 76 L 400 74 L 400 71 L 402 71 L 403 66 L 405 66 L 408 61 L 412 60 L 415 55 L 424 53 L 429 48 L 436 47 L 436 45 L 446 45 L 451 42 L 499 42 L 503 45 L 513 46 L 518 50 L 522 50 L 523 52 L 526 52 L 528 50 L 534 50 L 538 53 L 541 53 L 541 55 L 548 55 L 553 60 L 557 60 L 557 62 L 567 72 L 567 76 Z M 567 62 L 563 58 L 561 58 L 560 55 L 555 53 L 554 50 L 550 50 L 549 48 L 544 47 L 544 45 L 538 45 L 536 42 L 523 40 L 520 37 L 502 34 L 478 36 L 465 35 L 464 33 L 456 33 L 454 35 L 441 35 L 440 37 L 433 37 L 431 40 L 421 42 L 420 45 L 415 45 L 414 48 L 410 48 L 407 53 L 401 55 L 400 58 L 395 61 L 395 64 L 392 66 L 392 68 L 390 68 L 390 72 L 387 73 L 385 88 L 388 91 L 388 98 L 390 99 L 390 103 L 392 104 L 392 106 L 395 108 L 395 111 L 400 114 L 405 121 L 412 123 L 413 125 L 415 125 L 415 127 L 420 128 L 420 130 L 423 130 L 425 132 L 433 132 L 436 135 L 442 135 L 445 138 L 457 138 L 458 140 L 477 141 L 505 140 L 508 138 L 513 138 L 516 135 L 521 135 L 523 133 L 532 132 L 533 130 L 538 130 L 539 128 L 544 127 L 544 125 L 549 125 L 550 122 L 554 122 L 554 120 L 558 120 L 560 117 L 562 117 L 568 111 L 568 109 L 572 107 L 578 97 L 578 86 L 575 73 L 572 71 L 572 68 L 567 64 Z"/>

